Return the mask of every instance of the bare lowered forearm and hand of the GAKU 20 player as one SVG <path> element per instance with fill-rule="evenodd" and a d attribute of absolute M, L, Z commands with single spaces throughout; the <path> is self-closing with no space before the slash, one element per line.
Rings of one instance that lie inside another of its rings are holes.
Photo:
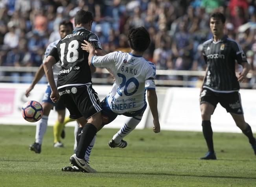
<path fill-rule="evenodd" d="M 157 110 L 157 93 L 155 89 L 147 89 L 147 100 L 149 103 L 149 107 L 151 110 L 151 113 L 153 115 L 153 131 L 155 133 L 160 132 L 160 123 L 158 118 L 158 110 Z"/>

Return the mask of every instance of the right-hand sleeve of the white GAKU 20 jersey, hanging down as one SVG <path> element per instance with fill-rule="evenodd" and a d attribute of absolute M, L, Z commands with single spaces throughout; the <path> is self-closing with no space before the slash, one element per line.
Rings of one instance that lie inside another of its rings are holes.
<path fill-rule="evenodd" d="M 151 89 L 155 90 L 155 76 L 156 76 L 156 66 L 152 62 L 149 62 L 149 67 L 146 71 L 146 77 L 145 77 L 145 89 Z"/>

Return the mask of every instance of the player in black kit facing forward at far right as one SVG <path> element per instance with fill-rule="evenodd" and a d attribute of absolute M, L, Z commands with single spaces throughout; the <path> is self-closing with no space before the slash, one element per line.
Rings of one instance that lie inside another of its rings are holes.
<path fill-rule="evenodd" d="M 220 103 L 231 114 L 236 125 L 249 138 L 256 154 L 256 140 L 250 125 L 245 122 L 239 94 L 239 82 L 245 80 L 250 65 L 238 42 L 224 34 L 224 26 L 225 16 L 219 12 L 212 13 L 210 29 L 213 37 L 203 44 L 203 56 L 207 68 L 201 89 L 200 109 L 203 135 L 208 146 L 208 152 L 201 158 L 205 160 L 216 159 L 210 119 L 217 103 Z M 238 77 L 235 72 L 236 61 L 243 67 Z"/>

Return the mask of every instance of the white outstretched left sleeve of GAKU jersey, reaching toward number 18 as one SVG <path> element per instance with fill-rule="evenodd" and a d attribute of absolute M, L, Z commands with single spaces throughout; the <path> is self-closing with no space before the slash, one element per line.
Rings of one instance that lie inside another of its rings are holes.
<path fill-rule="evenodd" d="M 111 69 L 115 62 L 115 52 L 106 54 L 105 56 L 93 56 L 91 64 L 94 67 L 105 67 Z"/>

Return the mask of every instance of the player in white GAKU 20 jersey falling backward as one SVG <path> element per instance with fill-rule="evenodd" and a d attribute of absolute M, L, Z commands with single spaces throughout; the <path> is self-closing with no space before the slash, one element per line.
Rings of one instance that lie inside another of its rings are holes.
<path fill-rule="evenodd" d="M 127 116 L 123 127 L 108 143 L 110 147 L 124 148 L 123 140 L 142 119 L 147 107 L 145 92 L 153 115 L 153 131 L 160 132 L 157 110 L 157 94 L 155 91 L 155 64 L 142 57 L 150 44 L 150 36 L 144 27 L 131 29 L 128 34 L 130 53 L 117 51 L 105 56 L 95 56 L 95 48 L 84 41 L 82 49 L 89 51 L 88 62 L 94 67 L 105 67 L 115 78 L 111 92 L 101 102 L 103 125 L 112 122 L 118 115 Z M 90 144 L 93 147 L 94 142 Z M 91 150 L 90 150 L 91 151 Z M 63 171 L 79 171 L 76 167 L 63 167 Z"/>

